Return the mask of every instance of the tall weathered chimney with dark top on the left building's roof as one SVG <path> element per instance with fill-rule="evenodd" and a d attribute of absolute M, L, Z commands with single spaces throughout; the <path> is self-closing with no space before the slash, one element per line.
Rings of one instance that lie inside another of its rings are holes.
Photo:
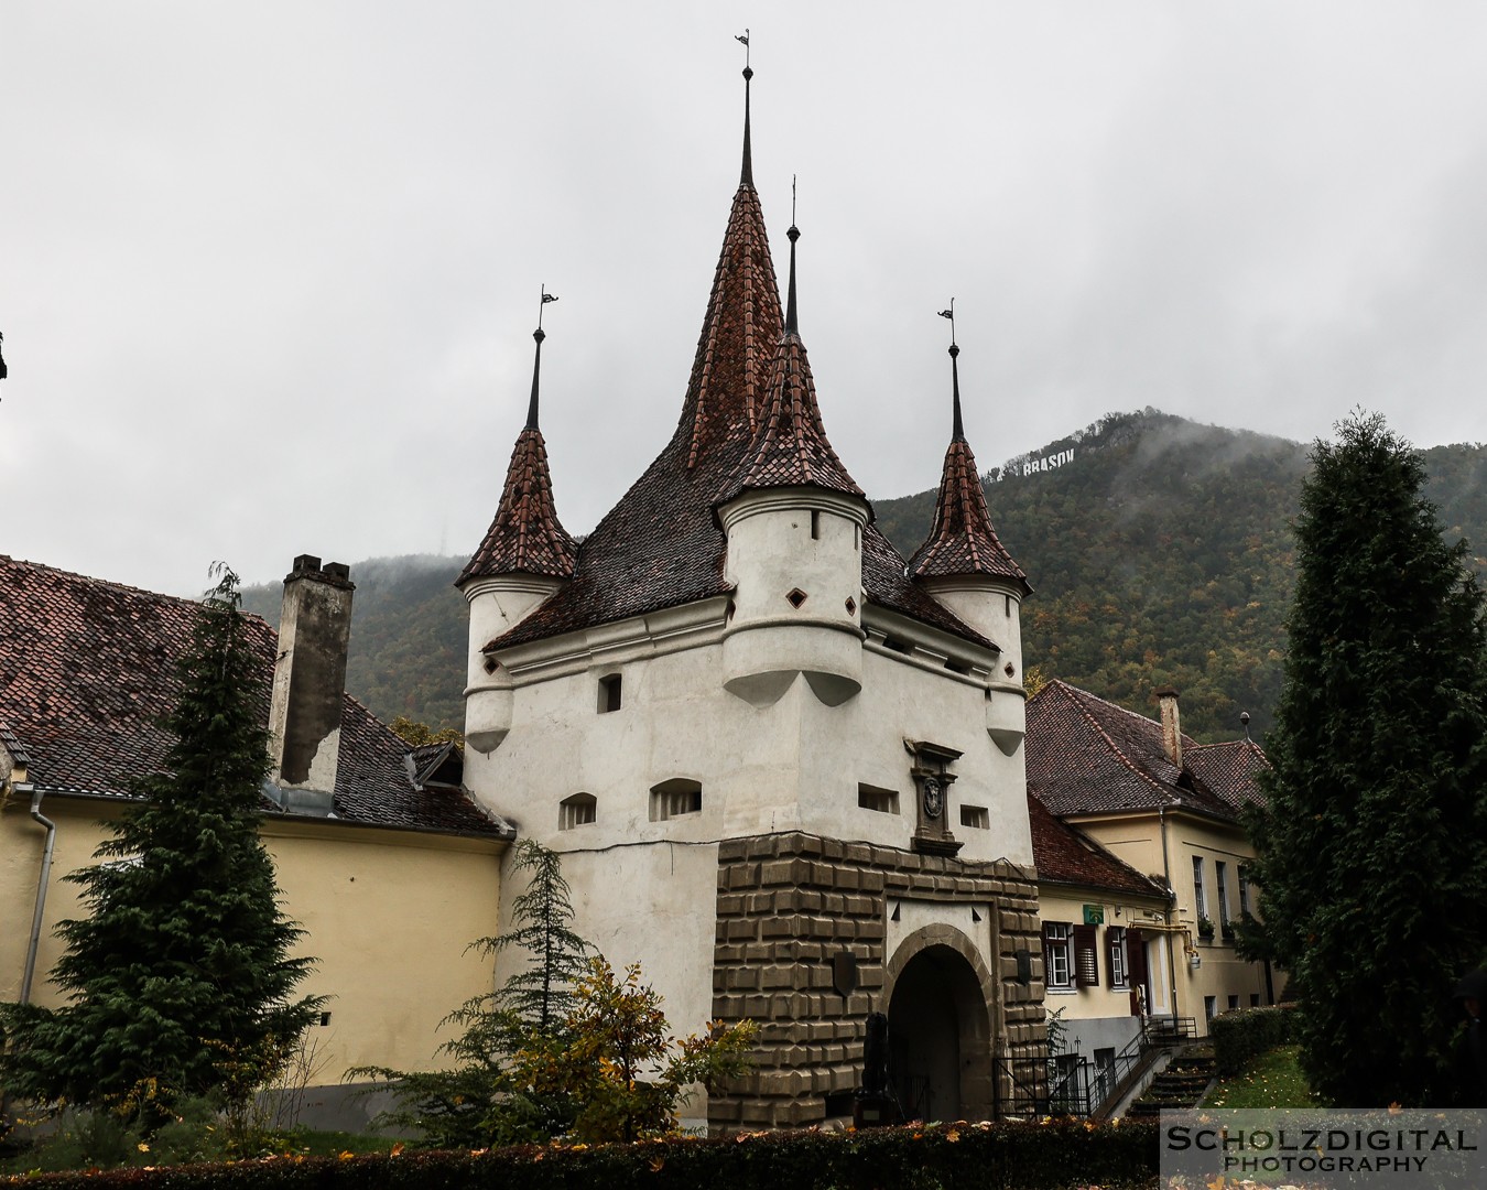
<path fill-rule="evenodd" d="M 329 812 L 330 794 L 336 790 L 354 591 L 348 567 L 329 562 L 321 568 L 320 559 L 309 553 L 296 558 L 284 579 L 269 702 L 274 784 L 321 794 L 320 799 L 293 799 L 296 808 L 311 812 Z"/>

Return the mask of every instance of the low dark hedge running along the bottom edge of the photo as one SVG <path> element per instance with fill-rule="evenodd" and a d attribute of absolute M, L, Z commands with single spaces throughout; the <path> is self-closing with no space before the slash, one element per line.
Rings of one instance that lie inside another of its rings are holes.
<path fill-rule="evenodd" d="M 43 1174 L 46 1190 L 1062 1190 L 1139 1187 L 1157 1177 L 1154 1123 L 1081 1120 L 767 1132 L 633 1145 L 523 1145 L 396 1157 L 275 1157 L 238 1165 Z"/>

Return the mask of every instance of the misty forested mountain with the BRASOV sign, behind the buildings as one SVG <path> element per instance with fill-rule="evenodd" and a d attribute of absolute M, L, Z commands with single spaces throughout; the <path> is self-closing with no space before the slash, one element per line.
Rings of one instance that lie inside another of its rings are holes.
<path fill-rule="evenodd" d="M 1438 446 L 1425 458 L 1447 538 L 1472 541 L 1487 571 L 1487 448 Z M 1306 469 L 1300 443 L 1148 409 L 989 472 L 992 521 L 1033 586 L 1022 616 L 1029 681 L 1065 678 L 1148 714 L 1152 692 L 1173 686 L 1199 741 L 1233 739 L 1240 711 L 1261 739 L 1280 687 Z M 934 491 L 874 509 L 907 556 L 929 530 Z M 462 564 L 352 565 L 346 684 L 378 715 L 461 726 L 465 608 L 452 583 Z M 277 585 L 244 601 L 278 622 Z"/>

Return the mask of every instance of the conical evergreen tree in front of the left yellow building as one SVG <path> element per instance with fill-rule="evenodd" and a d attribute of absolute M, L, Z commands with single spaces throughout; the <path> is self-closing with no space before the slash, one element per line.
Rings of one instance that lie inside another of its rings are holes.
<path fill-rule="evenodd" d="M 269 771 L 262 662 L 247 644 L 238 577 L 225 567 L 180 663 L 164 726 L 165 771 L 140 778 L 74 872 L 89 916 L 64 921 L 52 973 L 68 1004 L 7 1006 L 10 1093 L 109 1105 L 146 1123 L 181 1095 L 232 1107 L 278 1072 L 318 1013 L 294 1000 L 312 964 L 278 907 L 259 839 Z"/>

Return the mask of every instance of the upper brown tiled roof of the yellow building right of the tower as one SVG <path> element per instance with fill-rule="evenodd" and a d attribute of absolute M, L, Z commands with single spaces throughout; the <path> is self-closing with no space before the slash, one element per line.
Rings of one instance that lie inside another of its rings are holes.
<path fill-rule="evenodd" d="M 1050 681 L 1028 702 L 1028 790 L 1060 817 L 1182 806 L 1234 820 L 1239 805 L 1258 800 L 1259 791 L 1233 762 L 1234 753 L 1210 759 L 1213 748 L 1184 736 L 1184 759 L 1194 753 L 1199 759 L 1179 771 L 1161 747 L 1157 720 L 1065 681 Z M 1258 748 L 1249 753 L 1264 763 L 1257 754 Z M 1228 782 L 1222 794 L 1209 785 L 1215 774 Z"/>

